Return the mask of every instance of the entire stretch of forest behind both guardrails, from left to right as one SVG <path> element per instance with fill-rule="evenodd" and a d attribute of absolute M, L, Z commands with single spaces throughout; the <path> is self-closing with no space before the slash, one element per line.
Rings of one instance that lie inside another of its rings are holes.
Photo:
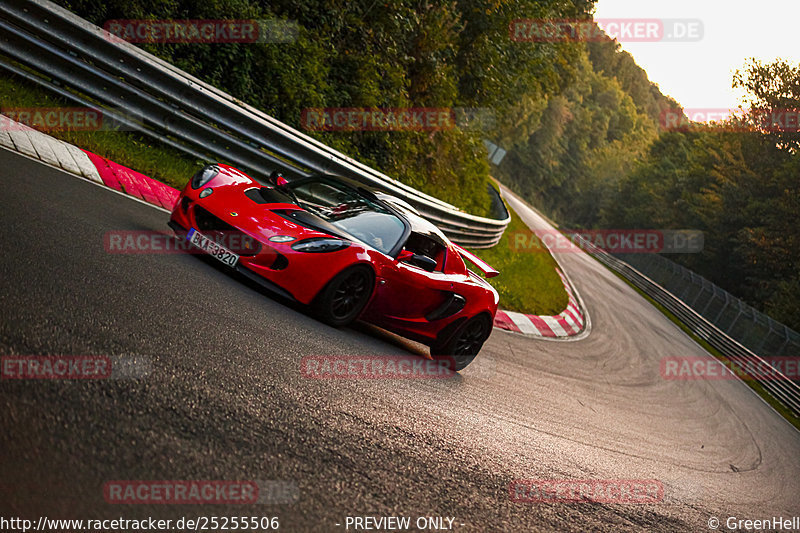
<path fill-rule="evenodd" d="M 678 259 L 800 329 L 800 66 L 750 60 L 741 123 L 665 131 L 679 108 L 616 41 L 515 42 L 509 22 L 588 19 L 594 0 L 60 0 L 109 19 L 280 19 L 283 44 L 147 44 L 148 51 L 290 125 L 311 107 L 473 107 L 483 129 L 309 132 L 468 211 L 488 214 L 483 139 L 498 177 L 565 225 L 694 228 Z M 676 256 L 673 256 L 676 257 Z"/>

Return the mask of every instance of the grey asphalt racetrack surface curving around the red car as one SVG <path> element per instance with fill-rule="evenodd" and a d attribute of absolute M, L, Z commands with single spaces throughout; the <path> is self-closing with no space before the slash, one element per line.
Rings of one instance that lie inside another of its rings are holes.
<path fill-rule="evenodd" d="M 167 231 L 167 214 L 6 150 L 0 191 L 0 354 L 150 365 L 141 379 L 0 381 L 0 516 L 277 516 L 283 531 L 454 517 L 466 532 L 709 531 L 711 517 L 800 515 L 800 433 L 741 382 L 663 379 L 661 358 L 705 352 L 582 253 L 558 259 L 591 317 L 585 338 L 495 330 L 451 379 L 309 379 L 305 356 L 425 348 L 332 329 L 197 256 L 108 253 L 107 232 Z M 664 493 L 512 501 L 510 484 L 532 479 L 655 479 Z M 110 504 L 113 480 L 281 480 L 296 494 Z"/>

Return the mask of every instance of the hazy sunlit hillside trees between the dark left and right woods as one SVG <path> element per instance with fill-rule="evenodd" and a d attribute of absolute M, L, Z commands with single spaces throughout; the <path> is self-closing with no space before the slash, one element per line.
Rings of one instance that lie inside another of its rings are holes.
<path fill-rule="evenodd" d="M 679 106 L 611 39 L 586 43 L 573 65 L 572 82 L 540 100 L 498 174 L 557 220 L 591 226 L 613 208 L 663 111 Z"/>

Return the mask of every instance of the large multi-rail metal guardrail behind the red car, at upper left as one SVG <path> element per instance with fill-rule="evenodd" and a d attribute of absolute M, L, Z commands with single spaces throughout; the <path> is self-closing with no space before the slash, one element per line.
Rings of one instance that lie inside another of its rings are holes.
<path fill-rule="evenodd" d="M 194 157 L 235 162 L 257 179 L 276 168 L 289 177 L 342 175 L 405 199 L 454 242 L 475 248 L 497 244 L 510 221 L 419 192 L 47 0 L 0 0 L 0 54 L 32 72 L 0 59 L 6 71 Z"/>

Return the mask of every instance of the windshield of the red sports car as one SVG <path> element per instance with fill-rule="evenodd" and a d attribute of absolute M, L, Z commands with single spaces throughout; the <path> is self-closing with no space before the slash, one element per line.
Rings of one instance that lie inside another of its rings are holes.
<path fill-rule="evenodd" d="M 388 254 L 405 232 L 397 215 L 333 180 L 302 180 L 288 185 L 298 205 Z"/>

